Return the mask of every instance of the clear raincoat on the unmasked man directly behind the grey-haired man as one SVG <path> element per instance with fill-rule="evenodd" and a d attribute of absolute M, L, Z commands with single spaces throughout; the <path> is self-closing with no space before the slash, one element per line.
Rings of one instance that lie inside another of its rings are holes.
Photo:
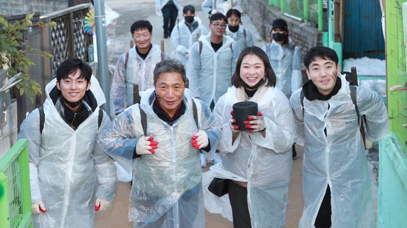
<path fill-rule="evenodd" d="M 158 45 L 153 45 L 146 59 L 142 59 L 137 54 L 135 46 L 131 48 L 127 68 L 125 67 L 126 53 L 120 56 L 110 87 L 111 116 L 117 115 L 133 105 L 133 84 L 138 84 L 140 91 L 154 87 L 154 68 L 163 57 L 169 59 L 167 54 L 161 52 Z"/>

